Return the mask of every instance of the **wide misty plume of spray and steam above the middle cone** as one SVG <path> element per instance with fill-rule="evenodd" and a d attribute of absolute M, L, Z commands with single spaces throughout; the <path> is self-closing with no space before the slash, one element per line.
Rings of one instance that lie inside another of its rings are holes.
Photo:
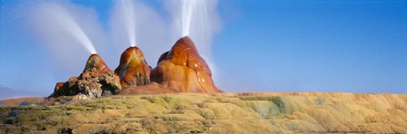
<path fill-rule="evenodd" d="M 124 1 L 124 3 L 115 1 L 109 13 L 109 37 L 112 39 L 111 44 L 114 44 L 113 49 L 117 50 L 113 53 L 114 63 L 117 62 L 117 57 L 129 47 L 129 44 L 134 45 L 130 40 L 133 40 L 136 46 L 143 50 L 144 58 L 147 62 L 156 62 L 160 55 L 174 44 L 173 41 L 170 41 L 170 36 L 174 35 L 174 33 L 169 31 L 172 20 L 166 20 L 166 17 L 160 14 L 157 8 L 144 3 L 142 0 Z M 131 6 L 134 12 L 132 14 L 125 13 L 124 6 Z M 128 15 L 134 18 L 135 23 L 124 21 L 129 18 Z M 129 28 L 124 23 L 132 24 L 134 27 Z M 129 36 L 127 31 L 130 29 L 134 29 L 135 36 Z M 179 37 L 179 34 L 176 34 L 176 36 Z"/>

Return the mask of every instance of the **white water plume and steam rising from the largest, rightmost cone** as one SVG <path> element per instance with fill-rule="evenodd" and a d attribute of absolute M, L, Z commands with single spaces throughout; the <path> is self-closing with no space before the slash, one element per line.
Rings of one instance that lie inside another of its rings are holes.
<path fill-rule="evenodd" d="M 189 36 L 201 57 L 216 75 L 212 58 L 213 35 L 222 30 L 222 19 L 217 9 L 217 0 L 165 0 L 164 6 L 174 18 L 173 37 Z M 216 81 L 216 76 L 213 79 Z"/>

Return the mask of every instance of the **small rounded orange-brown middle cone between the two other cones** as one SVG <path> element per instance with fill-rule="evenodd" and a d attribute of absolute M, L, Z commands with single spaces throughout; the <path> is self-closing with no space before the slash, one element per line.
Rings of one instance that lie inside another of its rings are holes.
<path fill-rule="evenodd" d="M 150 82 L 151 67 L 144 60 L 143 52 L 136 46 L 127 48 L 114 70 L 120 77 L 122 86 L 141 86 Z"/>

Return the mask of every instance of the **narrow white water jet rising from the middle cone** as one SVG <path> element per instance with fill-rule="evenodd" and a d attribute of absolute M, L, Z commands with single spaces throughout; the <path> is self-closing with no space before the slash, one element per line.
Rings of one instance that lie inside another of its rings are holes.
<path fill-rule="evenodd" d="M 135 46 L 135 10 L 133 1 L 120 0 L 116 3 L 114 9 L 124 16 L 122 17 L 122 22 L 124 23 L 130 46 Z"/>

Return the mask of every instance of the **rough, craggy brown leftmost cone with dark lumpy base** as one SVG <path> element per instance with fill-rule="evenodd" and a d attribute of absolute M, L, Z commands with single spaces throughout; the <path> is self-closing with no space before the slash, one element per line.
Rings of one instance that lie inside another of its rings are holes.
<path fill-rule="evenodd" d="M 120 78 L 111 71 L 97 54 L 86 62 L 84 72 L 66 82 L 58 82 L 50 97 L 74 96 L 74 99 L 98 98 L 117 94 L 122 89 Z"/>

